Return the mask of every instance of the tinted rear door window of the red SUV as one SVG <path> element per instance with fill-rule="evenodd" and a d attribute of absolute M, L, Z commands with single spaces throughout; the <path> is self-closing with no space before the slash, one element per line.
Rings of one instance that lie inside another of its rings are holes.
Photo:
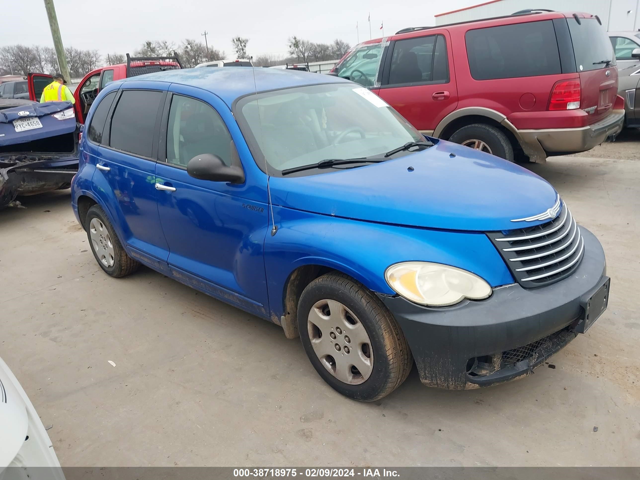
<path fill-rule="evenodd" d="M 388 84 L 446 83 L 447 47 L 443 35 L 399 40 L 394 45 Z"/>

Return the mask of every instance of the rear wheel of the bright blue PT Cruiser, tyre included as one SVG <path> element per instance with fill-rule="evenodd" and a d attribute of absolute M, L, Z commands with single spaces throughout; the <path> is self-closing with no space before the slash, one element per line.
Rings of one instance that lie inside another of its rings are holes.
<path fill-rule="evenodd" d="M 84 225 L 93 257 L 108 275 L 120 278 L 138 269 L 140 263 L 127 255 L 102 207 L 93 205 Z"/>

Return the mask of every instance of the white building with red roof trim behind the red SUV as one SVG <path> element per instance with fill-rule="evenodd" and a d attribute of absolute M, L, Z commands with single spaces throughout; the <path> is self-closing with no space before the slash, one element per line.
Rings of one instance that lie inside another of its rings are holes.
<path fill-rule="evenodd" d="M 436 25 L 502 17 L 527 8 L 598 15 L 607 31 L 640 29 L 640 0 L 490 0 L 435 15 Z"/>

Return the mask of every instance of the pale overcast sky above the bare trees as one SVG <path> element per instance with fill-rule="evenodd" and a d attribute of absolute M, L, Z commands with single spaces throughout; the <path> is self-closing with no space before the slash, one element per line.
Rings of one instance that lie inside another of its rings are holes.
<path fill-rule="evenodd" d="M 10 1 L 10 0 L 3 0 Z M 292 35 L 312 42 L 341 38 L 356 44 L 408 26 L 433 25 L 435 13 L 449 12 L 482 0 L 54 0 L 65 47 L 98 49 L 100 53 L 133 53 L 145 40 L 176 44 L 209 32 L 209 46 L 232 56 L 230 39 L 249 38 L 248 54 L 287 53 Z M 51 45 L 51 32 L 42 0 L 10 1 L 2 8 L 0 46 Z"/>

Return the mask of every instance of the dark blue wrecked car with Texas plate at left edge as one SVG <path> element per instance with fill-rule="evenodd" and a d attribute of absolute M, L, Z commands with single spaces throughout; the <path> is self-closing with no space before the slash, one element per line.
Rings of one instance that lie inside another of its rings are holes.
<path fill-rule="evenodd" d="M 78 134 L 69 102 L 0 99 L 0 209 L 18 195 L 69 188 Z"/>

